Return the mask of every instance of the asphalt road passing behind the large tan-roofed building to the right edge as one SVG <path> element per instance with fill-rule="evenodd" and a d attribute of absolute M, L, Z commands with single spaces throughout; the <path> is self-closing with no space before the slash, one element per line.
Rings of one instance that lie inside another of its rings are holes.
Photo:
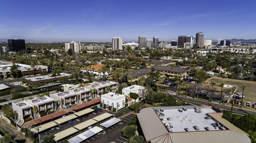
<path fill-rule="evenodd" d="M 168 92 L 168 95 L 173 97 L 173 98 L 176 98 L 176 93 L 173 92 L 172 90 Z M 180 99 L 185 101 L 185 97 L 180 97 Z M 193 99 L 193 98 L 190 98 L 189 96 L 187 97 L 187 101 L 193 102 L 193 103 L 199 103 L 201 105 L 212 105 L 214 107 L 218 107 L 219 109 L 231 110 L 230 106 L 220 105 L 219 103 L 212 103 L 212 102 L 208 102 L 208 101 L 202 101 L 202 100 L 199 100 L 199 99 Z M 234 112 L 239 112 L 239 113 L 242 113 L 242 114 L 254 114 L 256 116 L 256 111 L 253 111 L 253 110 L 246 110 L 246 109 L 240 109 L 240 108 L 237 108 L 237 107 L 233 107 L 233 111 Z"/>

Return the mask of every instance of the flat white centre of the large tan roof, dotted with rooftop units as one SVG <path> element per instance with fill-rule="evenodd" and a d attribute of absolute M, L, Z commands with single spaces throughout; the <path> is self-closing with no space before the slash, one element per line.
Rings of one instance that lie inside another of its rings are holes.
<path fill-rule="evenodd" d="M 226 127 L 208 115 L 215 112 L 213 109 L 196 109 L 198 107 L 154 108 L 159 120 L 169 132 L 226 130 Z"/>

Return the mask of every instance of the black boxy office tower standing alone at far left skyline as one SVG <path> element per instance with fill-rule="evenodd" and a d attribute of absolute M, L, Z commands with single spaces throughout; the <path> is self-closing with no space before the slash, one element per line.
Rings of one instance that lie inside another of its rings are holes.
<path fill-rule="evenodd" d="M 22 51 L 25 50 L 25 40 L 24 39 L 8 39 L 9 51 Z"/>

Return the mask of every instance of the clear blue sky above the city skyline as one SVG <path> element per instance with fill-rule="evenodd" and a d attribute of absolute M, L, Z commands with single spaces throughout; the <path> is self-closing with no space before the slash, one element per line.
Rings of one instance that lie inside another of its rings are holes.
<path fill-rule="evenodd" d="M 1 0 L 0 39 L 39 42 L 167 42 L 204 32 L 205 39 L 256 38 L 255 0 Z"/>

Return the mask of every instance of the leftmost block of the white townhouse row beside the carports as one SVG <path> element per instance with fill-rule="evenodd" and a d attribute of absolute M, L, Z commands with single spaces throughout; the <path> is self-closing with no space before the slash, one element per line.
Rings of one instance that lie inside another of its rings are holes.
<path fill-rule="evenodd" d="M 33 108 L 37 108 L 37 112 L 33 112 Z M 19 103 L 12 103 L 12 110 L 18 113 L 18 120 L 24 122 L 26 118 L 40 117 L 40 112 L 54 110 L 54 99 L 48 96 L 34 98 Z"/>

